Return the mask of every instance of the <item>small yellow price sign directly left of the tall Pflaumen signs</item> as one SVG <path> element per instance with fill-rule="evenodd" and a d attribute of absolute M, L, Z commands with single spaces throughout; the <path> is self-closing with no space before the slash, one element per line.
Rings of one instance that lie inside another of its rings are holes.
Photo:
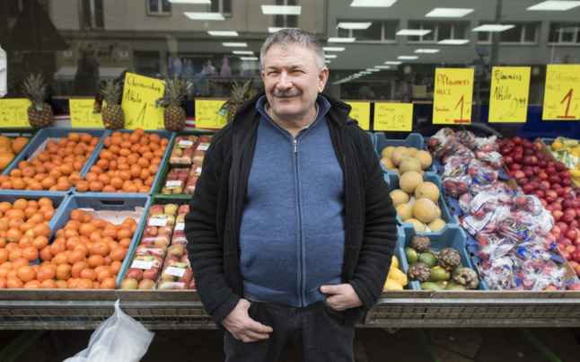
<path fill-rule="evenodd" d="M 375 131 L 411 131 L 413 127 L 413 104 L 374 103 Z"/>

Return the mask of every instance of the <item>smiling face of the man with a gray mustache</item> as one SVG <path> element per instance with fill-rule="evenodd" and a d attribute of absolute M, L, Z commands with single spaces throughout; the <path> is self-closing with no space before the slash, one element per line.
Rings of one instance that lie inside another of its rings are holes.
<path fill-rule="evenodd" d="M 311 49 L 298 44 L 287 49 L 278 44 L 271 46 L 264 56 L 262 79 L 274 119 L 291 123 L 312 121 L 316 97 L 328 77 L 327 67 L 318 71 Z"/>

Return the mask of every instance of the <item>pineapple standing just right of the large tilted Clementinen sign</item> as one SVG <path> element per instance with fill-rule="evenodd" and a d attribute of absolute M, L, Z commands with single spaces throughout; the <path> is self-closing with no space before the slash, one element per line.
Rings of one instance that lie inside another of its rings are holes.
<path fill-rule="evenodd" d="M 188 95 L 188 81 L 179 80 L 177 75 L 165 82 L 163 91 L 163 123 L 168 131 L 179 131 L 185 127 L 185 110 L 181 108 Z"/>

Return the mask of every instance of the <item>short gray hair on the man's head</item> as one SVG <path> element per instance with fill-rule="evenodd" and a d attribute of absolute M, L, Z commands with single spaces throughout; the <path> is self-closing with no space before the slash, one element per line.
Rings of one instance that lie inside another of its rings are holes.
<path fill-rule="evenodd" d="M 321 46 L 321 41 L 308 31 L 301 31 L 297 29 L 283 29 L 270 35 L 262 45 L 259 51 L 259 64 L 264 69 L 264 57 L 268 49 L 274 44 L 278 44 L 281 48 L 287 49 L 294 44 L 299 44 L 303 47 L 310 48 L 314 52 L 316 59 L 316 66 L 320 71 L 324 67 L 324 50 Z"/>

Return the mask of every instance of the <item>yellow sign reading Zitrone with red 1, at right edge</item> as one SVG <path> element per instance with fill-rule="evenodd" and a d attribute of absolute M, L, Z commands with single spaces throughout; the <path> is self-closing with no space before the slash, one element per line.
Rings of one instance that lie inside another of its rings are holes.
<path fill-rule="evenodd" d="M 580 65 L 546 67 L 543 120 L 580 119 Z"/>

